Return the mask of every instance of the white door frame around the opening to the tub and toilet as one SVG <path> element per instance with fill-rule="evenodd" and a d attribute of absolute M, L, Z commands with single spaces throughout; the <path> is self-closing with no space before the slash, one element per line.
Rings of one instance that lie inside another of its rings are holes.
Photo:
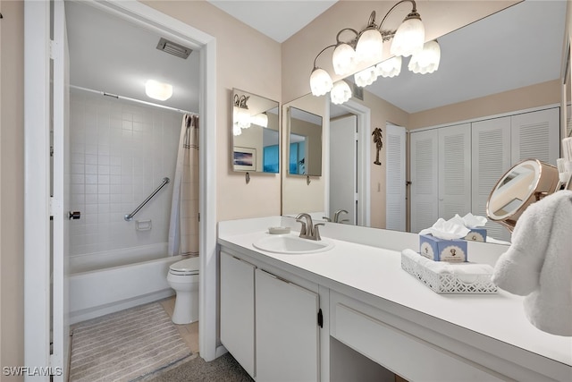
<path fill-rule="evenodd" d="M 224 352 L 216 343 L 216 178 L 206 176 L 216 172 L 216 39 L 138 1 L 89 4 L 200 49 L 199 351 L 206 361 L 214 360 Z M 58 366 L 50 364 L 49 325 L 49 2 L 26 2 L 24 20 L 24 364 Z"/>

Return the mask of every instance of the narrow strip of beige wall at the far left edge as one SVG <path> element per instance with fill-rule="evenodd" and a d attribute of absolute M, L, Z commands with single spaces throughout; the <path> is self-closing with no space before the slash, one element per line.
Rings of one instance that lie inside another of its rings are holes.
<path fill-rule="evenodd" d="M 24 364 L 23 11 L 0 1 L 0 367 Z"/>

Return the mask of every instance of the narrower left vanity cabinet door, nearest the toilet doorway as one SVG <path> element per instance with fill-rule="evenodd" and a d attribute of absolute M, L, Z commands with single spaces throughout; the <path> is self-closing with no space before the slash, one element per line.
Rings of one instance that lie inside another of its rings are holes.
<path fill-rule="evenodd" d="M 221 252 L 221 343 L 255 377 L 254 271 L 252 264 Z"/>

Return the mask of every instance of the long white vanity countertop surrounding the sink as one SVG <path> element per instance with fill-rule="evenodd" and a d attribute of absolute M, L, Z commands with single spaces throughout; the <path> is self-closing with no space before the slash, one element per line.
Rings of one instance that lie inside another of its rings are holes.
<path fill-rule="evenodd" d="M 277 222 L 258 219 L 240 225 L 238 231 L 219 225 L 219 242 L 235 250 L 246 250 L 250 256 L 333 290 L 339 285 L 347 286 L 357 295 L 367 293 L 572 366 L 572 337 L 551 335 L 530 324 L 522 297 L 502 290 L 498 294 L 434 293 L 401 269 L 400 250 L 336 240 L 324 234 L 326 240 L 334 242 L 332 250 L 304 255 L 257 250 L 252 243 L 268 236 L 263 227 L 272 223 Z"/>

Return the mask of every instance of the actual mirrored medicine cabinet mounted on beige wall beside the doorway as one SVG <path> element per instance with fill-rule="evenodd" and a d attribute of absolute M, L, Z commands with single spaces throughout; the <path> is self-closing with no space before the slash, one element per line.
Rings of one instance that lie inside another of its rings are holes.
<path fill-rule="evenodd" d="M 232 169 L 280 172 L 278 102 L 232 89 Z"/>

